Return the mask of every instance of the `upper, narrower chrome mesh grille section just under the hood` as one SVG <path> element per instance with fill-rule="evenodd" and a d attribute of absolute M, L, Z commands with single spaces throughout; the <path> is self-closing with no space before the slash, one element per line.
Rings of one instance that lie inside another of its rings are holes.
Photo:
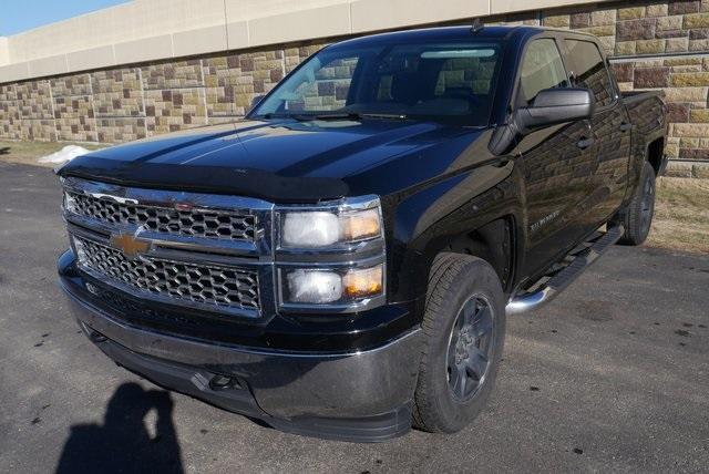
<path fill-rule="evenodd" d="M 146 206 L 66 192 L 73 214 L 111 225 L 143 226 L 147 230 L 186 237 L 254 240 L 256 216 L 229 210 Z M 69 203 L 68 203 L 69 204 Z"/>

